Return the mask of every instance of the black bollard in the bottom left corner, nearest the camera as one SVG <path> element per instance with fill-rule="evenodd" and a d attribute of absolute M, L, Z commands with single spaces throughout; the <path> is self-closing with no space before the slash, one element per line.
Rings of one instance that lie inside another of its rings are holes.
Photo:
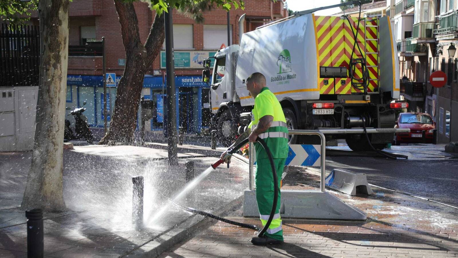
<path fill-rule="evenodd" d="M 26 210 L 27 218 L 27 258 L 43 258 L 44 233 L 43 210 Z"/>

